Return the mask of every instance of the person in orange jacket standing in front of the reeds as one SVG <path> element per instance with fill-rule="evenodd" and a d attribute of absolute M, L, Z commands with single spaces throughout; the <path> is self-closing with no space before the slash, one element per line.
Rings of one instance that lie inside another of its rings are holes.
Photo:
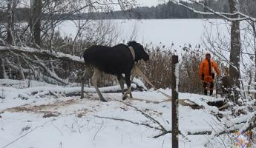
<path fill-rule="evenodd" d="M 207 95 L 208 90 L 210 90 L 210 95 L 212 95 L 214 90 L 214 68 L 217 76 L 220 76 L 220 70 L 215 61 L 211 59 L 211 54 L 206 53 L 206 58 L 200 63 L 199 66 L 199 76 L 203 81 L 204 95 Z"/>

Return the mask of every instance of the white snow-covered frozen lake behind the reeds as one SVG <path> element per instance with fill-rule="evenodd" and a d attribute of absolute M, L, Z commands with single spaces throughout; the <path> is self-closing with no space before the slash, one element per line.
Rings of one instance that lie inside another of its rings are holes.
<path fill-rule="evenodd" d="M 223 19 L 105 20 L 104 24 L 115 27 L 115 31 L 119 34 L 117 43 L 131 41 L 129 38 L 136 30 L 136 38 L 133 38 L 134 40 L 144 45 L 165 45 L 165 47 L 171 47 L 171 50 L 177 50 L 178 53 L 182 51 L 182 47 L 188 47 L 188 44 L 191 44 L 192 49 L 200 44 L 201 49 L 207 48 L 209 50 L 208 47 L 212 47 L 209 46 L 210 44 L 206 40 L 208 39 L 207 36 L 211 36 L 211 43 L 212 41 L 217 41 L 214 46 L 215 48 L 220 48 L 217 55 L 223 59 L 229 59 L 229 52 L 226 50 L 230 46 L 230 23 Z M 242 21 L 240 25 L 242 52 L 254 54 L 254 48 L 252 47 L 254 38 L 252 34 L 245 31 L 246 25 L 245 21 Z M 92 29 L 95 29 L 95 26 Z M 59 26 L 59 31 L 62 36 L 75 36 L 76 25 L 73 21 L 65 21 Z M 203 44 L 203 41 L 206 41 L 205 43 L 208 47 Z M 254 64 L 249 55 L 243 54 L 242 58 L 243 62 L 246 63 L 246 65 L 241 65 L 242 67 Z"/>

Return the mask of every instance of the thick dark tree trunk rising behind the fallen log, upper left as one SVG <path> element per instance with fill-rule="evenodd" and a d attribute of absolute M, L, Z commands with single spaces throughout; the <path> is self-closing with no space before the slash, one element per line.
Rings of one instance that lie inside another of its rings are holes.
<path fill-rule="evenodd" d="M 31 28 L 33 31 L 33 41 L 37 45 L 41 45 L 41 16 L 42 16 L 42 0 L 30 0 L 31 4 Z"/>

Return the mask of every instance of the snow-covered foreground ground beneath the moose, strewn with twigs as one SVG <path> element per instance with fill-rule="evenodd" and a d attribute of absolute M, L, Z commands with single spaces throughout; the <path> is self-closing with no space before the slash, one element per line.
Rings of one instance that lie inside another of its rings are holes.
<path fill-rule="evenodd" d="M 171 134 L 154 138 L 162 133 L 161 127 L 142 114 L 145 112 L 171 130 L 171 102 L 160 92 L 133 92 L 135 99 L 123 102 L 121 93 L 103 93 L 108 101 L 103 103 L 93 91 L 80 100 L 65 96 L 76 87 L 36 81 L 31 84 L 33 87 L 26 88 L 27 81 L 0 80 L 0 147 L 171 147 Z M 106 90 L 111 89 L 116 87 Z M 163 91 L 171 95 L 171 90 Z M 204 147 L 212 142 L 210 135 L 188 133 L 223 129 L 214 116 L 220 111 L 205 102 L 216 98 L 180 93 L 179 99 L 204 106 L 200 110 L 179 106 L 180 147 Z M 232 138 L 218 139 L 222 140 L 227 144 Z M 221 147 L 217 142 L 210 146 Z"/>

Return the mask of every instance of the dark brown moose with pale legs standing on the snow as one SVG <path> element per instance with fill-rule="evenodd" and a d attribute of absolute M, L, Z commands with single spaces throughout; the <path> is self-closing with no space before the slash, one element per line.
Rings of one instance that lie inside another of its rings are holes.
<path fill-rule="evenodd" d="M 131 70 L 134 64 L 139 60 L 149 60 L 148 53 L 145 52 L 144 47 L 136 41 L 129 41 L 127 45 L 117 44 L 114 47 L 107 47 L 101 45 L 93 45 L 85 50 L 83 58 L 85 60 L 85 70 L 82 75 L 82 90 L 81 99 L 84 97 L 85 80 L 89 78 L 89 73 L 93 70 L 91 82 L 96 89 L 99 99 L 106 101 L 103 98 L 98 88 L 98 80 L 102 73 L 116 75 L 119 81 L 122 94 L 124 94 L 124 81 L 128 87 L 127 92 L 131 95 Z M 123 74 L 125 77 L 123 77 Z M 125 94 L 127 93 L 125 92 Z M 122 100 L 128 96 L 123 95 Z"/>

